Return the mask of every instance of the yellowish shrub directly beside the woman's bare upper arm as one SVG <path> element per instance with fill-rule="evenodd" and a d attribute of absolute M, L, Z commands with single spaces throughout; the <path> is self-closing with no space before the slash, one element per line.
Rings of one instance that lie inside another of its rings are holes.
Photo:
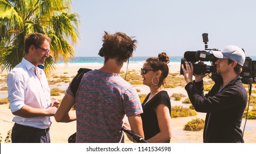
<path fill-rule="evenodd" d="M 196 116 L 196 111 L 182 106 L 171 107 L 171 118 Z"/>

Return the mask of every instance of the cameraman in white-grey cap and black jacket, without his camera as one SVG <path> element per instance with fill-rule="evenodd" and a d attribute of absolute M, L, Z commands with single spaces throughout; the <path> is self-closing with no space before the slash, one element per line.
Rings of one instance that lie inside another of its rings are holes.
<path fill-rule="evenodd" d="M 215 62 L 219 75 L 215 85 L 204 95 L 203 78 L 195 74 L 192 80 L 193 66 L 181 65 L 187 85 L 185 89 L 197 112 L 204 112 L 205 128 L 203 142 L 244 142 L 241 122 L 247 105 L 247 92 L 242 85 L 239 74 L 245 61 L 243 50 L 237 46 L 227 46 L 221 51 L 213 51 L 218 58 Z"/>

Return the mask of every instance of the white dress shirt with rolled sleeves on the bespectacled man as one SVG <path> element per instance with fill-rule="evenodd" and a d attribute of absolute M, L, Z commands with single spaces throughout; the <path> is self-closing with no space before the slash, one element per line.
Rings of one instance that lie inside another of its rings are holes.
<path fill-rule="evenodd" d="M 39 79 L 35 75 L 38 70 Z M 12 113 L 24 105 L 33 108 L 48 108 L 51 105 L 50 88 L 43 69 L 35 67 L 25 58 L 7 75 L 8 100 Z M 50 127 L 50 117 L 24 118 L 14 116 L 13 122 L 30 127 Z"/>

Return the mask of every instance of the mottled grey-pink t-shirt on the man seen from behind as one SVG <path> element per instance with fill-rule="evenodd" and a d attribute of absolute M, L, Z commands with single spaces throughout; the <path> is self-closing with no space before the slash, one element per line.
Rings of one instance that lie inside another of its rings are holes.
<path fill-rule="evenodd" d="M 135 88 L 115 73 L 85 73 L 75 99 L 76 142 L 123 142 L 124 114 L 143 113 Z"/>

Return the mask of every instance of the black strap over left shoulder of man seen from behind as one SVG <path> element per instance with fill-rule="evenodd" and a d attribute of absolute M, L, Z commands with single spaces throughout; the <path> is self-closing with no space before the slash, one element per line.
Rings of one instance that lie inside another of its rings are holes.
<path fill-rule="evenodd" d="M 71 91 L 73 93 L 74 96 L 76 96 L 76 91 L 80 85 L 80 82 L 82 80 L 83 74 L 85 74 L 86 72 L 91 71 L 92 69 L 88 69 L 88 68 L 80 68 L 77 71 L 77 75 L 73 78 L 73 80 L 71 81 Z"/>

